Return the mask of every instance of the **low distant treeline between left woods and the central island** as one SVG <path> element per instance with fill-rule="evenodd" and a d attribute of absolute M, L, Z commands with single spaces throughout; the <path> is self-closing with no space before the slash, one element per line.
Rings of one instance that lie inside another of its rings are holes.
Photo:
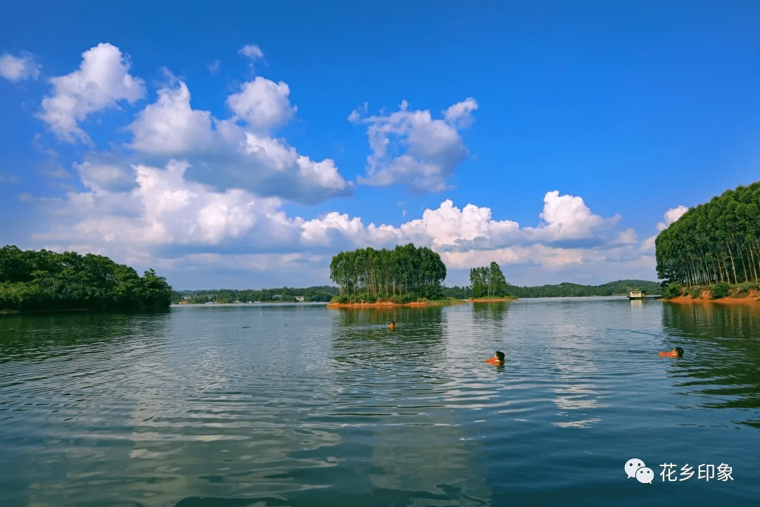
<path fill-rule="evenodd" d="M 215 290 L 181 290 L 175 291 L 172 296 L 172 303 L 248 303 L 250 302 L 287 302 L 296 303 L 303 298 L 303 301 L 330 301 L 333 296 L 337 296 L 339 290 L 337 287 L 328 285 L 319 285 L 315 287 L 306 287 L 297 289 L 295 287 L 282 287 L 280 289 L 215 289 Z"/>

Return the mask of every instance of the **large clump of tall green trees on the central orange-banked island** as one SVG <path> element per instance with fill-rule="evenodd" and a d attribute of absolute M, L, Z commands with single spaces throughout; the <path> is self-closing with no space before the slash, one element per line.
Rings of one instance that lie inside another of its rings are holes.
<path fill-rule="evenodd" d="M 370 247 L 340 252 L 330 263 L 330 279 L 340 287 L 340 296 L 440 299 L 446 266 L 441 256 L 412 243 L 393 250 Z"/>

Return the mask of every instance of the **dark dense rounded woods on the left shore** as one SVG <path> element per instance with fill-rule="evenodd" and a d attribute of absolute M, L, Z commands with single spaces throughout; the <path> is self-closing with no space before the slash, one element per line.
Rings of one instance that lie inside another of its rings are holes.
<path fill-rule="evenodd" d="M 140 277 L 103 255 L 0 249 L 0 309 L 165 308 L 171 295 L 152 269 Z"/>

